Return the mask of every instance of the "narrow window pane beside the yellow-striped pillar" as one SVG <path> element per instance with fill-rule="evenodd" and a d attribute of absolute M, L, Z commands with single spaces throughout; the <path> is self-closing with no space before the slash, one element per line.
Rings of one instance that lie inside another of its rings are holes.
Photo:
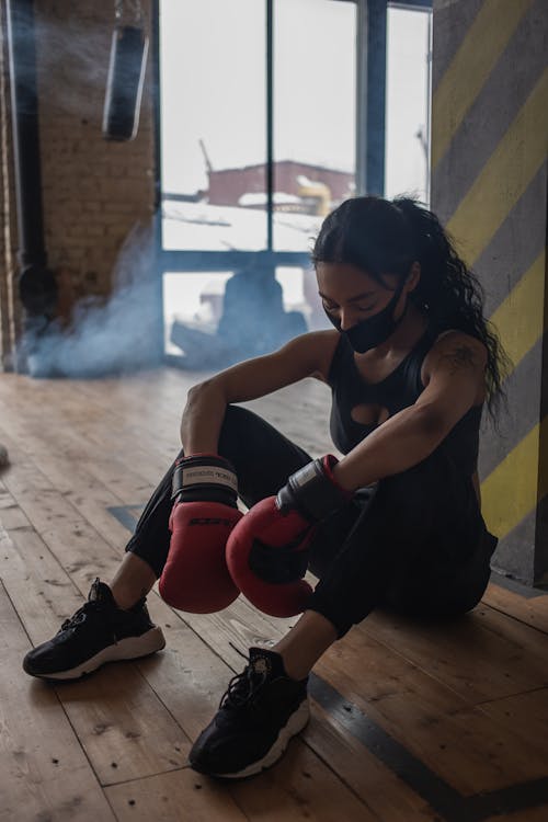
<path fill-rule="evenodd" d="M 430 199 L 429 11 L 388 8 L 386 196 Z"/>

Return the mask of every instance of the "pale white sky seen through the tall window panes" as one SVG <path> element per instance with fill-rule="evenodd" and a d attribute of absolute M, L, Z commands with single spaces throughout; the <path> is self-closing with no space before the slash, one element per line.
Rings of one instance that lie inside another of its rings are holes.
<path fill-rule="evenodd" d="M 161 0 L 163 190 L 206 187 L 216 169 L 265 160 L 263 0 Z M 354 168 L 355 7 L 276 0 L 274 150 Z M 386 194 L 424 192 L 426 14 L 389 10 Z"/>

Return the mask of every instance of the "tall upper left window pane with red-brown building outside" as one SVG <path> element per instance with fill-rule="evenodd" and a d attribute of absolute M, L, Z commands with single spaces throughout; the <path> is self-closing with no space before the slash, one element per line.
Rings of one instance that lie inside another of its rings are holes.
<path fill-rule="evenodd" d="M 265 25 L 262 0 L 160 0 L 165 249 L 266 246 Z"/>

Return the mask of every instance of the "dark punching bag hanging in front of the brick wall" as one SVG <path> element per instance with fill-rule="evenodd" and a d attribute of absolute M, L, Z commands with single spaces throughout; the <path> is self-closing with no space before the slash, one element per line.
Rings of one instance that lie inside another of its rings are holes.
<path fill-rule="evenodd" d="M 137 134 L 147 54 L 148 36 L 142 27 L 115 27 L 103 112 L 107 140 L 133 140 Z"/>

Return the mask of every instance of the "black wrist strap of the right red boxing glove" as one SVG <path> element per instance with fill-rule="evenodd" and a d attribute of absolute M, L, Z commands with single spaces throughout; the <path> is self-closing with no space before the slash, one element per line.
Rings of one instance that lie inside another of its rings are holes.
<path fill-rule="evenodd" d="M 276 496 L 282 514 L 297 510 L 311 523 L 334 513 L 351 499 L 352 492 L 338 484 L 332 470 L 339 460 L 331 454 L 315 459 L 295 473 Z"/>

